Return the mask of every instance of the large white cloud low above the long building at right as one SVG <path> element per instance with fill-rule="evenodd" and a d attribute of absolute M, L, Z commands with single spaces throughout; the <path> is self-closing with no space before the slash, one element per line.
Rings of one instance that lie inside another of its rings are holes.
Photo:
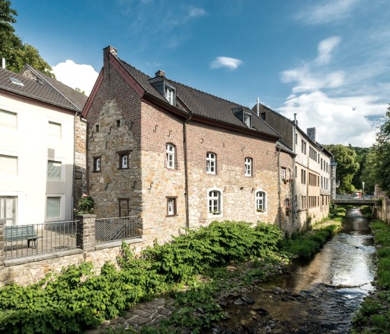
<path fill-rule="evenodd" d="M 370 116 L 384 114 L 386 104 L 377 96 L 331 98 L 321 91 L 290 96 L 279 112 L 289 119 L 297 114 L 298 126 L 315 127 L 322 144 L 352 144 L 368 147 L 375 142 L 377 123 Z"/>

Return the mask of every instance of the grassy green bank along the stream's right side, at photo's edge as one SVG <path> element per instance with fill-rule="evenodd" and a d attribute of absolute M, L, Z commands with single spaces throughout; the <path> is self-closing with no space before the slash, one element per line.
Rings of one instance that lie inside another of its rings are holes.
<path fill-rule="evenodd" d="M 377 248 L 375 291 L 364 299 L 354 317 L 352 333 L 390 333 L 390 226 L 382 220 L 370 223 Z"/>

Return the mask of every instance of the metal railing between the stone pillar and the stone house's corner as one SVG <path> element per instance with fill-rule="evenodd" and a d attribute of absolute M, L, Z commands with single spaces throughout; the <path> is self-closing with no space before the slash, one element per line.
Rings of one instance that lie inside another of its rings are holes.
<path fill-rule="evenodd" d="M 95 243 L 109 243 L 140 236 L 141 229 L 137 216 L 95 220 Z"/>

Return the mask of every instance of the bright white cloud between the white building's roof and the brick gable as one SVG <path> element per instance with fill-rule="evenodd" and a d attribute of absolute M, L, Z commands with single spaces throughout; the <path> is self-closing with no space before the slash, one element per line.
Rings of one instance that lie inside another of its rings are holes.
<path fill-rule="evenodd" d="M 91 93 L 99 75 L 91 65 L 77 64 L 69 59 L 65 63 L 53 66 L 53 72 L 57 80 L 73 89 L 79 88 L 85 91 L 87 96 Z"/>

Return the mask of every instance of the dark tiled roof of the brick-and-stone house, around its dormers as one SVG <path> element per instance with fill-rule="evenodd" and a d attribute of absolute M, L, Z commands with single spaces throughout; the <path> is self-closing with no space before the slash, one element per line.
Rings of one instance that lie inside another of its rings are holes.
<path fill-rule="evenodd" d="M 146 93 L 164 101 L 164 103 L 169 104 L 164 96 L 162 96 L 151 84 L 154 82 L 155 78 L 149 77 L 145 73 L 142 73 L 140 70 L 137 70 L 137 68 L 134 68 L 118 57 L 117 59 L 130 73 L 130 75 L 132 75 L 132 77 L 134 77 L 134 79 L 136 79 L 137 82 L 143 87 Z M 248 127 L 242 121 L 240 121 L 240 119 L 238 119 L 235 114 L 233 114 L 233 108 L 242 107 L 245 112 L 252 114 L 253 131 L 261 132 L 265 135 L 270 135 L 273 137 L 281 137 L 274 129 L 265 123 L 263 119 L 260 119 L 256 113 L 252 112 L 252 110 L 248 107 L 238 105 L 237 103 L 224 100 L 223 98 L 219 98 L 217 96 L 212 96 L 209 93 L 205 93 L 203 91 L 199 91 L 198 89 L 180 84 L 180 82 L 167 79 L 166 77 L 164 77 L 164 80 L 176 88 L 176 107 L 178 107 L 186 114 L 189 114 L 187 111 L 188 108 L 193 115 L 202 116 L 214 121 L 221 121 L 233 126 L 248 129 Z M 182 103 L 184 103 L 185 106 Z"/>

